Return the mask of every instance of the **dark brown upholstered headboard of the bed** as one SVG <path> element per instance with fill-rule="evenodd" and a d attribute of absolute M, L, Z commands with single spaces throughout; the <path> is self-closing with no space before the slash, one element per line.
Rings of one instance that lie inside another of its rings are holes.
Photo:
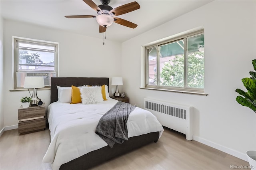
<path fill-rule="evenodd" d="M 52 77 L 51 78 L 51 103 L 58 101 L 58 89 L 56 87 L 71 87 L 82 85 L 108 85 L 107 77 Z"/>

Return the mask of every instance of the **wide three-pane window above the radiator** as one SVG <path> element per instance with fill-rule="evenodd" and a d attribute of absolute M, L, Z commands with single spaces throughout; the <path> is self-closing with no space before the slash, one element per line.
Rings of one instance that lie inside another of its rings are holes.
<path fill-rule="evenodd" d="M 146 87 L 204 92 L 204 30 L 145 49 Z"/>

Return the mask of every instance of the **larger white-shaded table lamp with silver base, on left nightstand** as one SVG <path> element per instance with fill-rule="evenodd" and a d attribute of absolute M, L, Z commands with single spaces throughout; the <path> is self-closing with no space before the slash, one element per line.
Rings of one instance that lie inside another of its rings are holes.
<path fill-rule="evenodd" d="M 28 89 L 29 94 L 29 89 L 33 89 L 32 95 L 30 94 L 32 97 L 31 106 L 36 106 L 37 102 L 41 100 L 37 97 L 36 88 L 44 88 L 44 77 L 25 77 L 24 89 Z"/>

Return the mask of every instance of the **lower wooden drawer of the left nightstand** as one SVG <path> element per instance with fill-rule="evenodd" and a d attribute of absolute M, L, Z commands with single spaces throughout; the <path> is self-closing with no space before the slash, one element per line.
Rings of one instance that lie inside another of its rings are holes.
<path fill-rule="evenodd" d="M 45 119 L 36 119 L 30 121 L 19 122 L 19 133 L 30 132 L 34 130 L 45 129 Z"/>

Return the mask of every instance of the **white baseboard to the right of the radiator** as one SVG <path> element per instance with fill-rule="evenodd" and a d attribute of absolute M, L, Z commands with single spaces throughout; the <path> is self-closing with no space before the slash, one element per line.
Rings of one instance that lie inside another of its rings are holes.
<path fill-rule="evenodd" d="M 222 152 L 225 152 L 227 154 L 230 154 L 232 156 L 235 156 L 237 158 L 240 158 L 240 159 L 245 160 L 246 162 L 248 162 L 248 159 L 247 159 L 247 156 L 246 156 L 245 153 L 238 152 L 236 150 L 227 148 L 226 146 L 222 146 L 220 144 L 216 144 L 214 142 L 211 142 L 210 140 L 206 140 L 206 139 L 200 138 L 198 136 L 193 136 L 193 140 L 196 140 L 197 142 L 200 142 L 200 143 L 205 144 L 207 146 L 211 146 L 212 148 L 218 149 Z"/>

